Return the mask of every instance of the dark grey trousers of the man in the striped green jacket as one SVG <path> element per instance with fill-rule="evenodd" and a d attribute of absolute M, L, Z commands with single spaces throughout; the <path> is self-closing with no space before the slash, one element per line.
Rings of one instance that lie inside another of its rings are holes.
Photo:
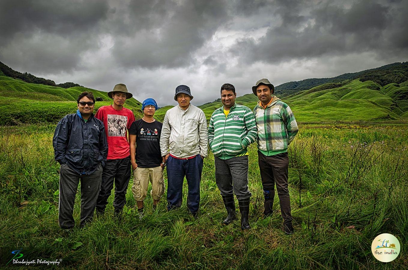
<path fill-rule="evenodd" d="M 221 196 L 236 195 L 238 200 L 248 199 L 248 156 L 215 160 L 215 183 L 221 191 Z"/>

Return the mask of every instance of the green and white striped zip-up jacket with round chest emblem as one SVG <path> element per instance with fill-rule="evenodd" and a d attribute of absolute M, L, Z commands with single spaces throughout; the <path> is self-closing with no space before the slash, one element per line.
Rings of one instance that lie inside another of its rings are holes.
<path fill-rule="evenodd" d="M 255 116 L 247 106 L 234 104 L 225 117 L 224 106 L 211 115 L 208 143 L 213 154 L 230 159 L 246 153 L 248 145 L 257 139 Z"/>

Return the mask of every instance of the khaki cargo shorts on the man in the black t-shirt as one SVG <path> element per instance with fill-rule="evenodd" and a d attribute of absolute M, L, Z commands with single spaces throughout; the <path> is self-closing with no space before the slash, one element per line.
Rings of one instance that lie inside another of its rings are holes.
<path fill-rule="evenodd" d="M 137 167 L 133 171 L 133 177 L 132 193 L 136 201 L 143 201 L 146 198 L 149 182 L 152 183 L 152 198 L 160 200 L 164 193 L 164 178 L 161 166 L 155 168 Z"/>

